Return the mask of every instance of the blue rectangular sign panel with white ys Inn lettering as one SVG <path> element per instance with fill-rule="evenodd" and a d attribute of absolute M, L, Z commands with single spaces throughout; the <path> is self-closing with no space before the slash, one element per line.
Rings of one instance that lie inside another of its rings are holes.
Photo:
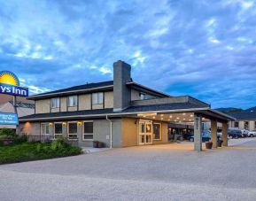
<path fill-rule="evenodd" d="M 28 89 L 19 86 L 0 83 L 0 94 L 10 94 L 19 97 L 28 97 Z"/>

